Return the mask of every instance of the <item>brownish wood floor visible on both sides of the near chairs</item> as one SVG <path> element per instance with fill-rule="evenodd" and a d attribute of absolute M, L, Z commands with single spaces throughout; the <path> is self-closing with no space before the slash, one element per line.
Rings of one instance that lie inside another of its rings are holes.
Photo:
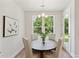
<path fill-rule="evenodd" d="M 24 49 L 15 58 L 25 58 Z M 60 58 L 71 58 L 71 56 L 63 49 Z"/>

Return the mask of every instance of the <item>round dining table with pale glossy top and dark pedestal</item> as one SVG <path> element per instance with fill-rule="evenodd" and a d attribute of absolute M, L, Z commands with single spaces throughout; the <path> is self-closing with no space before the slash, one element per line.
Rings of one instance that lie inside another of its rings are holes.
<path fill-rule="evenodd" d="M 55 49 L 57 46 L 56 42 L 53 40 L 45 40 L 45 44 L 43 44 L 42 39 L 37 39 L 32 41 L 32 49 L 40 52 L 40 57 L 43 58 L 44 51 L 51 51 Z"/>

